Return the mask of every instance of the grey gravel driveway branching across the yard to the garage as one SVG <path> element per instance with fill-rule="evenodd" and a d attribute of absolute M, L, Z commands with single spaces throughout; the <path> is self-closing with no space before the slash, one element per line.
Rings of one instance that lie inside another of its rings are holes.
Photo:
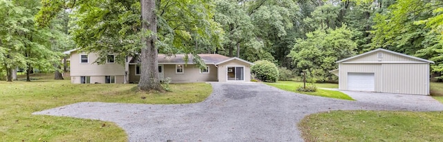
<path fill-rule="evenodd" d="M 296 94 L 262 83 L 211 84 L 213 94 L 201 103 L 84 102 L 33 114 L 113 121 L 127 132 L 129 141 L 303 141 L 296 125 L 305 115 L 316 112 L 443 110 L 441 103 L 427 96 L 354 93 L 351 96 L 358 101 L 344 101 Z"/>

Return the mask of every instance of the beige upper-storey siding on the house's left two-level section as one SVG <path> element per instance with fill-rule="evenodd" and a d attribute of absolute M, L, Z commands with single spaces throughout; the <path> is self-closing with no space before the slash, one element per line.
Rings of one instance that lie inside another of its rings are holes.
<path fill-rule="evenodd" d="M 97 55 L 88 54 L 89 63 L 80 63 L 80 54 L 77 52 L 71 53 L 71 76 L 125 76 L 125 66 L 118 63 L 105 63 L 97 65 L 93 63 L 96 61 Z"/>

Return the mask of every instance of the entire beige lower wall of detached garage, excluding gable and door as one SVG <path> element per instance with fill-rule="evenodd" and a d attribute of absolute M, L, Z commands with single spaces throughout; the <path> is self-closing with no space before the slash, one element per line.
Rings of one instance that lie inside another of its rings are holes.
<path fill-rule="evenodd" d="M 374 72 L 375 92 L 429 94 L 428 63 L 340 63 L 340 90 L 347 90 L 347 72 Z"/>

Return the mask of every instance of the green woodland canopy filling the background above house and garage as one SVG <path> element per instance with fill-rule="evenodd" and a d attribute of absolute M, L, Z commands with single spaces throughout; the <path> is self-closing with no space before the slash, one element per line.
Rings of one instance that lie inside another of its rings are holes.
<path fill-rule="evenodd" d="M 150 43 L 158 53 L 218 53 L 251 62 L 267 60 L 293 72 L 310 70 L 318 81 L 335 80 L 327 72 L 337 67 L 334 61 L 376 48 L 430 59 L 435 61 L 432 72 L 437 77 L 443 72 L 440 0 L 0 3 L 3 72 L 33 66 L 57 70 L 49 65 L 60 55 L 48 50 L 60 52 L 66 47 L 99 53 L 97 63 L 105 62 L 107 54 L 117 53 L 116 61 L 123 63 L 128 55 L 143 57 L 140 53 Z M 153 10 L 143 14 L 143 3 L 155 3 Z M 155 15 L 155 24 L 147 22 L 143 28 L 142 18 L 147 14 Z M 68 24 L 60 17 L 69 19 Z M 153 25 L 156 31 L 150 27 Z M 204 68 L 198 57 L 195 62 Z"/>

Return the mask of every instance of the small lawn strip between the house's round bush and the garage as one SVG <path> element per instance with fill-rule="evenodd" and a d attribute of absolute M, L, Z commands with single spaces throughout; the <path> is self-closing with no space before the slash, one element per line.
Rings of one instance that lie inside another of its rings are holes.
<path fill-rule="evenodd" d="M 354 100 L 351 97 L 347 96 L 347 94 L 344 94 L 343 92 L 340 92 L 340 91 L 334 91 L 334 90 L 317 89 L 316 92 L 298 92 L 297 88 L 298 88 L 298 86 L 303 85 L 302 82 L 278 81 L 276 83 L 266 83 L 266 84 L 271 85 L 275 88 L 279 88 L 281 90 L 287 90 L 287 91 L 296 92 L 296 93 L 300 93 L 300 94 L 310 94 L 310 95 L 321 96 L 321 97 Z M 316 86 L 317 86 L 317 88 L 338 88 L 338 84 L 334 84 L 334 83 L 316 83 Z"/>

